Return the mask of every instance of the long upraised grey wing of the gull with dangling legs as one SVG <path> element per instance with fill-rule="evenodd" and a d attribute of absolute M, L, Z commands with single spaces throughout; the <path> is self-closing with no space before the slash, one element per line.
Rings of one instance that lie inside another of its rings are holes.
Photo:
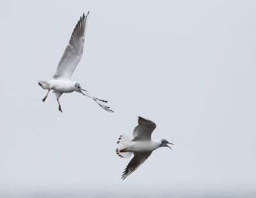
<path fill-rule="evenodd" d="M 77 22 L 56 73 L 53 76 L 54 79 L 70 79 L 76 69 L 83 54 L 88 14 L 89 11 L 86 16 L 83 14 L 83 17 L 80 17 L 80 20 Z"/>

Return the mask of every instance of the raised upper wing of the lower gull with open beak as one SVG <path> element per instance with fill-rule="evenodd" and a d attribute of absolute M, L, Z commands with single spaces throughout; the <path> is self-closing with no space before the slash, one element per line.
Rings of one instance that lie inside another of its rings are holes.
<path fill-rule="evenodd" d="M 133 130 L 133 136 L 134 139 L 132 141 L 137 140 L 144 140 L 144 141 L 150 141 L 151 140 L 151 134 L 156 128 L 156 124 L 145 118 L 138 117 L 138 126 L 136 126 Z"/>

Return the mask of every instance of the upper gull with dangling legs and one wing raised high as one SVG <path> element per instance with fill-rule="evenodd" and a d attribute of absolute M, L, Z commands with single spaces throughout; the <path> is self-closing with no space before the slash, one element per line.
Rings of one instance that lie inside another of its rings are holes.
<path fill-rule="evenodd" d="M 86 31 L 88 15 L 89 15 L 89 11 L 86 16 L 83 13 L 83 17 L 80 17 L 79 21 L 77 22 L 76 27 L 74 28 L 74 31 L 69 40 L 69 43 L 65 49 L 65 52 L 61 57 L 60 63 L 56 69 L 56 73 L 54 74 L 53 79 L 49 81 L 38 80 L 38 84 L 43 89 L 48 90 L 47 95 L 44 97 L 42 101 L 45 102 L 49 94 L 49 91 L 52 89 L 56 95 L 56 100 L 59 103 L 60 112 L 62 112 L 61 105 L 59 102 L 60 96 L 63 93 L 71 93 L 73 91 L 77 91 L 79 93 L 82 93 L 84 96 L 88 96 L 89 98 L 92 98 L 92 100 L 97 102 L 97 104 L 100 105 L 100 107 L 102 107 L 108 112 L 113 112 L 113 110 L 109 109 L 109 107 L 102 104 L 102 103 L 107 103 L 108 101 L 100 100 L 99 98 L 90 96 L 88 93 L 83 93 L 82 91 L 85 91 L 85 92 L 87 91 L 82 89 L 79 83 L 72 82 L 70 80 L 83 54 L 84 34 Z"/>

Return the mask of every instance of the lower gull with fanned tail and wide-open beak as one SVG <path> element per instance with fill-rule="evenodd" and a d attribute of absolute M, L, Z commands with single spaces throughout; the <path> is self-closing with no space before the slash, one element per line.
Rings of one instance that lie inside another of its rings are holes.
<path fill-rule="evenodd" d="M 116 154 L 122 158 L 129 158 L 132 153 L 134 155 L 122 174 L 123 180 L 138 169 L 154 150 L 160 147 L 170 148 L 168 144 L 172 143 L 165 139 L 151 140 L 151 134 L 155 128 L 156 124 L 153 121 L 139 116 L 138 126 L 133 130 L 134 138 L 131 140 L 126 135 L 120 135 L 117 141 L 119 148 L 116 148 Z"/>

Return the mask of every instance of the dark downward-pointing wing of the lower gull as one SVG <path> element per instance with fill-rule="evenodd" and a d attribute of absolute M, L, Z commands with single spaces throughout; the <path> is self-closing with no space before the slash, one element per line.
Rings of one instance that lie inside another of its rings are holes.
<path fill-rule="evenodd" d="M 125 168 L 122 174 L 122 179 L 124 180 L 125 178 L 127 178 L 127 176 L 132 174 L 132 172 L 136 171 L 136 169 L 138 169 L 138 167 L 140 167 L 140 165 L 143 164 L 145 160 L 147 160 L 148 156 L 150 156 L 151 153 L 152 151 L 147 153 L 133 153 L 134 157 L 131 159 L 131 161 Z"/>

